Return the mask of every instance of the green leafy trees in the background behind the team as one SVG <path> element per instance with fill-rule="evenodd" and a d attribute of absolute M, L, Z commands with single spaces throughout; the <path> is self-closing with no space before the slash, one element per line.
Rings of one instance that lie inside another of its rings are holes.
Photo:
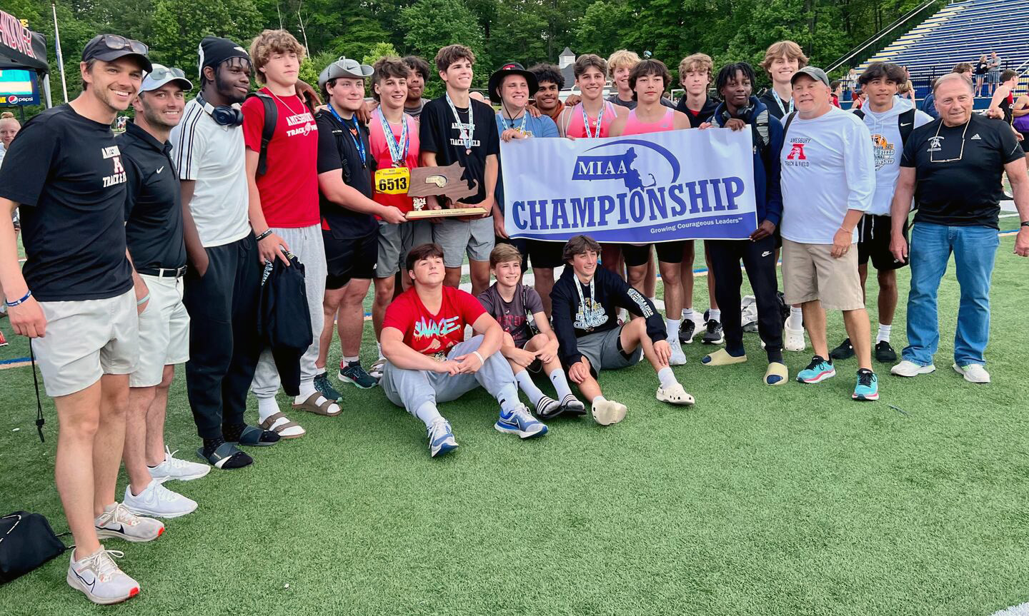
<path fill-rule="evenodd" d="M 475 86 L 494 67 L 517 61 L 557 63 L 565 46 L 603 57 L 628 48 L 665 61 L 703 51 L 719 66 L 748 61 L 781 39 L 801 43 L 824 66 L 921 4 L 918 0 L 59 0 L 68 96 L 80 88 L 78 61 L 94 35 L 112 32 L 150 46 L 153 61 L 197 75 L 197 46 L 206 35 L 248 46 L 265 28 L 283 28 L 304 42 L 311 58 L 301 77 L 340 56 L 370 64 L 389 53 L 422 56 L 429 63 L 451 43 L 476 55 Z M 46 35 L 55 103 L 61 81 L 54 51 L 50 4 L 4 0 L 4 10 Z M 764 75 L 761 75 L 764 77 Z M 429 95 L 441 93 L 438 79 Z M 31 111 L 31 110 L 27 110 Z"/>

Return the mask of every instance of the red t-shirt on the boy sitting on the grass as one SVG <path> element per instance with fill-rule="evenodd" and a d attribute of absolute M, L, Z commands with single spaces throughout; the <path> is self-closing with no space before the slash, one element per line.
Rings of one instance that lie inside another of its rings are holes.
<path fill-rule="evenodd" d="M 403 343 L 423 355 L 450 351 L 464 341 L 464 326 L 474 323 L 486 309 L 471 294 L 442 288 L 443 300 L 439 312 L 430 314 L 414 287 L 407 289 L 386 309 L 383 328 L 393 327 L 403 332 Z"/>

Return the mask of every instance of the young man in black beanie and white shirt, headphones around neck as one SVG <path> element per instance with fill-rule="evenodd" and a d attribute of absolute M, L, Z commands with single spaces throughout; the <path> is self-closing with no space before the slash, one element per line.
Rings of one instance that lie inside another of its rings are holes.
<path fill-rule="evenodd" d="M 237 444 L 271 445 L 280 439 L 247 426 L 243 416 L 261 351 L 256 335 L 261 263 L 247 212 L 240 110 L 251 70 L 246 49 L 205 37 L 201 94 L 186 104 L 171 133 L 190 265 L 183 295 L 192 320 L 186 392 L 204 439 L 198 455 L 218 469 L 253 463 Z"/>

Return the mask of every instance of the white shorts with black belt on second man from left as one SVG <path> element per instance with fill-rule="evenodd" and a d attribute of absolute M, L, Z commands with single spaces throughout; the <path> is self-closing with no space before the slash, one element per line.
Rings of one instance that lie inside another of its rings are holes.
<path fill-rule="evenodd" d="M 189 360 L 189 314 L 182 305 L 182 279 L 140 275 L 150 301 L 139 316 L 139 362 L 129 387 L 161 384 L 165 366 Z"/>

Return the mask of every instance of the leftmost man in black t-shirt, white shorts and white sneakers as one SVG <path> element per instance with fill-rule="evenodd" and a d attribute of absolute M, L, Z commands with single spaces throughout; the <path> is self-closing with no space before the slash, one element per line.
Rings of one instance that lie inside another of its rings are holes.
<path fill-rule="evenodd" d="M 55 478 L 75 542 L 66 579 L 97 604 L 139 594 L 100 540 L 152 541 L 165 531 L 108 496 L 139 356 L 137 313 L 149 299 L 127 258 L 126 171 L 111 123 L 152 68 L 146 52 L 118 35 L 90 40 L 82 94 L 32 118 L 0 171 L 0 281 L 10 324 L 32 338 L 61 423 Z M 19 206 L 24 270 L 10 221 Z"/>

